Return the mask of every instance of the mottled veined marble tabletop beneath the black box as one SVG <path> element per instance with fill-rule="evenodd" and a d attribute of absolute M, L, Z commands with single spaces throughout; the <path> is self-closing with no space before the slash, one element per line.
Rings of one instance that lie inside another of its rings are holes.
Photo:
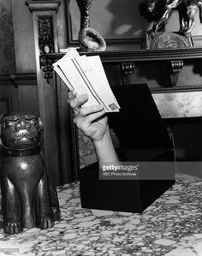
<path fill-rule="evenodd" d="M 0 255 L 202 255 L 202 180 L 176 174 L 143 213 L 80 207 L 78 182 L 57 188 L 62 220 L 51 229 L 0 232 Z"/>

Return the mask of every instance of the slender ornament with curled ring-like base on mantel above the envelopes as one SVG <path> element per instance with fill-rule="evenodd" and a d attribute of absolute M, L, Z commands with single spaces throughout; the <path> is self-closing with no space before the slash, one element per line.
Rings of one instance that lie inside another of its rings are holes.
<path fill-rule="evenodd" d="M 106 43 L 98 31 L 90 27 L 92 0 L 76 0 L 80 8 L 80 47 L 86 51 L 105 51 Z"/>

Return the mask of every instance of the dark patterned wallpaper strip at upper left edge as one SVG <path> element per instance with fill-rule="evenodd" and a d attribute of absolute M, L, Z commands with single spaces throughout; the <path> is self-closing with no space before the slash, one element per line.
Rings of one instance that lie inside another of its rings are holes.
<path fill-rule="evenodd" d="M 15 45 L 10 0 L 0 1 L 0 74 L 15 74 Z"/>

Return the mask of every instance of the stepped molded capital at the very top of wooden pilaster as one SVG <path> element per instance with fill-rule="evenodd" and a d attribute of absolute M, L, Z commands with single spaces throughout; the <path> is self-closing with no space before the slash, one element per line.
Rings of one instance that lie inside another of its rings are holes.
<path fill-rule="evenodd" d="M 60 1 L 26 1 L 26 5 L 33 11 L 58 11 Z"/>

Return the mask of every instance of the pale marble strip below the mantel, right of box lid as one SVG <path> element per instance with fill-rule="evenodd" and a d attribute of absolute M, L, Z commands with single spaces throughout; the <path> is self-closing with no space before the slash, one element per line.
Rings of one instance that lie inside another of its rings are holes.
<path fill-rule="evenodd" d="M 153 93 L 163 118 L 202 116 L 202 92 Z"/>

